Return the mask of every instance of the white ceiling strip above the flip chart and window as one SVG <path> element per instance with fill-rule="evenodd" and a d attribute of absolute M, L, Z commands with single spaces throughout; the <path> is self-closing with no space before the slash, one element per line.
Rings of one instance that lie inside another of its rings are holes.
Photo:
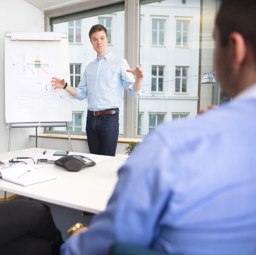
<path fill-rule="evenodd" d="M 52 9 L 69 6 L 74 3 L 86 2 L 88 0 L 24 0 L 41 11 L 49 11 Z"/>

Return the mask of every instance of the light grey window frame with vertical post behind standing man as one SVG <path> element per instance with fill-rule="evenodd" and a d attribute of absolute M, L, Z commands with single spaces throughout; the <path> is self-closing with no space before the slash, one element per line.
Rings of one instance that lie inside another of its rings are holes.
<path fill-rule="evenodd" d="M 123 6 L 123 7 L 122 7 Z M 75 3 L 71 6 L 64 6 L 59 9 L 53 9 L 49 11 L 44 11 L 45 31 L 50 32 L 53 25 L 52 20 L 59 20 L 59 17 L 79 17 L 82 18 L 81 14 L 89 13 L 91 11 L 101 11 L 97 14 L 98 17 L 105 17 L 106 13 L 109 16 L 110 13 L 103 12 L 105 9 L 122 9 L 125 12 L 125 59 L 127 60 L 129 66 L 135 67 L 139 64 L 139 49 L 140 49 L 140 0 L 88 0 L 82 3 Z M 72 13 L 70 13 L 72 10 Z M 112 23 L 112 27 L 114 24 Z M 112 38 L 111 38 L 112 39 Z M 113 42 L 112 42 L 113 43 Z M 137 49 L 137 50 L 134 50 Z M 83 70 L 81 70 L 83 72 Z M 137 134 L 138 126 L 138 109 L 139 109 L 139 97 L 134 98 L 129 96 L 128 91 L 124 90 L 124 130 L 123 134 L 119 134 L 119 139 L 121 138 L 142 138 L 144 135 Z M 44 129 L 45 133 L 55 133 L 55 134 L 67 134 L 67 132 L 62 131 L 50 131 L 49 128 Z M 82 135 L 86 136 L 85 132 L 70 132 L 70 135 Z"/>

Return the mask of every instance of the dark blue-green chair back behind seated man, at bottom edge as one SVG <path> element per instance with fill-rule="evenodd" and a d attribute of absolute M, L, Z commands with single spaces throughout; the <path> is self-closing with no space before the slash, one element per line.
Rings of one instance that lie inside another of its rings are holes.
<path fill-rule="evenodd" d="M 132 244 L 116 243 L 111 247 L 109 255 L 167 255 L 167 253 L 142 248 Z"/>

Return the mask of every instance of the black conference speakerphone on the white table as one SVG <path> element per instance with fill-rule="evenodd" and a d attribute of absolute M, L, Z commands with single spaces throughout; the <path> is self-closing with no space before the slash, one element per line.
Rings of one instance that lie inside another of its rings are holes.
<path fill-rule="evenodd" d="M 57 166 L 63 166 L 67 171 L 78 172 L 84 167 L 94 166 L 96 163 L 81 155 L 68 155 L 54 161 Z"/>

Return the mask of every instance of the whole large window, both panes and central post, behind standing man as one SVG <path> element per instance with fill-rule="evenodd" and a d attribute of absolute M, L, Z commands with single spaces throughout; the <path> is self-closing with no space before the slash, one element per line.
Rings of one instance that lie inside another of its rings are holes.
<path fill-rule="evenodd" d="M 161 121 L 195 117 L 201 109 L 223 101 L 218 81 L 201 84 L 204 74 L 215 72 L 212 31 L 217 0 L 140 0 L 140 6 L 136 1 L 124 5 L 119 0 L 105 0 L 103 7 L 87 0 L 73 8 L 73 13 L 67 7 L 65 14 L 64 9 L 59 15 L 56 11 L 51 20 L 52 31 L 69 35 L 74 87 L 87 64 L 96 58 L 88 32 L 98 23 L 108 29 L 109 51 L 125 57 L 131 69 L 137 64 L 143 67 L 145 78 L 139 99 L 134 100 L 125 90 L 119 138 L 141 138 Z M 52 11 L 44 14 L 52 17 Z M 80 74 L 76 65 L 81 65 Z M 72 108 L 83 113 L 81 132 L 85 132 L 87 101 L 72 99 Z"/>

